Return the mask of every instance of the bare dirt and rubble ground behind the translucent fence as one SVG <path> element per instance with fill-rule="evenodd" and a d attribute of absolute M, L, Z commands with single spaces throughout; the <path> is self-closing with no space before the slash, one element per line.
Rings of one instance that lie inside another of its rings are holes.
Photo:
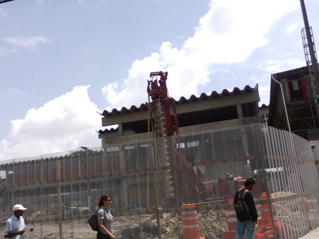
<path fill-rule="evenodd" d="M 277 195 L 280 193 L 280 195 Z M 278 192 L 276 196 L 291 195 L 290 192 Z M 283 194 L 283 195 L 281 195 Z M 256 206 L 259 216 L 261 215 L 260 205 Z M 300 218 L 300 206 L 297 200 L 287 202 L 273 203 L 275 216 L 287 226 L 303 226 L 306 222 Z M 42 215 L 41 215 L 42 214 Z M 11 211 L 0 212 L 0 223 L 4 223 L 12 215 Z M 54 218 L 48 211 L 25 214 L 25 219 Z M 87 215 L 88 217 L 88 215 Z M 228 231 L 228 212 L 227 210 L 210 210 L 199 211 L 198 220 L 201 236 L 205 239 L 222 238 L 223 232 Z M 296 218 L 299 218 L 300 225 L 296 225 Z M 34 231 L 28 232 L 27 238 L 34 239 L 59 239 L 59 224 L 57 222 L 48 222 L 35 224 Z M 182 217 L 179 214 L 162 214 L 160 215 L 161 236 L 163 239 L 182 239 Z M 4 226 L 0 227 L 1 233 L 4 233 Z M 158 238 L 156 215 L 141 215 L 128 217 L 115 217 L 113 230 L 116 238 L 119 239 L 153 239 Z M 92 231 L 86 220 L 63 221 L 63 238 L 64 239 L 95 239 L 96 232 Z"/>

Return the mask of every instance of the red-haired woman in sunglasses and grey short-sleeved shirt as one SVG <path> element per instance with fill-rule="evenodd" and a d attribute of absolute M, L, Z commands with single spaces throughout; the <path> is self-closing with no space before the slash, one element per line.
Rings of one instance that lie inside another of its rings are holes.
<path fill-rule="evenodd" d="M 115 235 L 113 235 L 112 222 L 113 216 L 108 209 L 112 204 L 111 196 L 108 194 L 104 194 L 100 197 L 99 201 L 99 211 L 97 212 L 97 217 L 99 221 L 98 234 L 96 235 L 96 239 L 116 239 Z"/>

